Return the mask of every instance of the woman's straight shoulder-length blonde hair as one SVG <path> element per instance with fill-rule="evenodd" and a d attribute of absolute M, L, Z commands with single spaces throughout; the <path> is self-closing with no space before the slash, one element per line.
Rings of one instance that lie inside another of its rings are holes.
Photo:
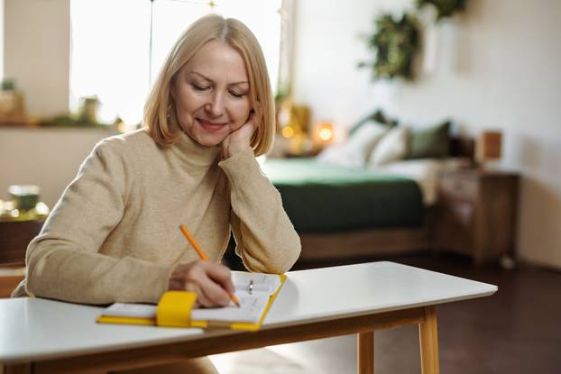
<path fill-rule="evenodd" d="M 179 69 L 208 41 L 223 41 L 244 59 L 250 102 L 258 114 L 256 118 L 261 114 L 261 122 L 257 123 L 250 145 L 253 153 L 260 156 L 271 148 L 275 132 L 274 102 L 265 59 L 259 42 L 244 23 L 217 14 L 208 14 L 192 23 L 171 49 L 144 105 L 145 131 L 161 146 L 179 139 L 182 130 L 170 89 Z"/>

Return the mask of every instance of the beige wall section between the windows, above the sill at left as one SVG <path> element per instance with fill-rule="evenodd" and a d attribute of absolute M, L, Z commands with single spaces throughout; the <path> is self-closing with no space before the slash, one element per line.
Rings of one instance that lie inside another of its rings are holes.
<path fill-rule="evenodd" d="M 29 116 L 69 107 L 69 0 L 5 0 L 4 75 L 23 92 Z"/>

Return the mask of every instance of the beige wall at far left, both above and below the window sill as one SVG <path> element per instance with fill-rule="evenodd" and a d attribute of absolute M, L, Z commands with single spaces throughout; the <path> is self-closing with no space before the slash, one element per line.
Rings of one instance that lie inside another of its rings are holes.
<path fill-rule="evenodd" d="M 4 0 L 4 76 L 23 92 L 27 114 L 48 117 L 69 106 L 69 0 Z M 0 126 L 0 199 L 12 184 L 36 184 L 53 206 L 97 141 L 99 129 Z"/>

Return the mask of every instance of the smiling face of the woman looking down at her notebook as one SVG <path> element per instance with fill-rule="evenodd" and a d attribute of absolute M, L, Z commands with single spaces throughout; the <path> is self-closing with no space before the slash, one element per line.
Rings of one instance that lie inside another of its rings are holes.
<path fill-rule="evenodd" d="M 239 129 L 252 106 L 244 59 L 222 41 L 209 41 L 179 69 L 171 87 L 181 128 L 215 146 Z"/>

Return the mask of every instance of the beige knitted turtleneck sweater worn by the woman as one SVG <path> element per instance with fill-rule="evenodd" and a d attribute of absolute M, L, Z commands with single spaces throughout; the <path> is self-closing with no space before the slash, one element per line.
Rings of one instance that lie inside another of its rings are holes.
<path fill-rule="evenodd" d="M 142 130 L 100 141 L 30 243 L 14 296 L 157 303 L 175 265 L 198 260 L 179 223 L 210 260 L 232 228 L 247 269 L 290 269 L 300 242 L 278 191 L 252 151 L 219 155 L 187 134 L 169 148 Z"/>

